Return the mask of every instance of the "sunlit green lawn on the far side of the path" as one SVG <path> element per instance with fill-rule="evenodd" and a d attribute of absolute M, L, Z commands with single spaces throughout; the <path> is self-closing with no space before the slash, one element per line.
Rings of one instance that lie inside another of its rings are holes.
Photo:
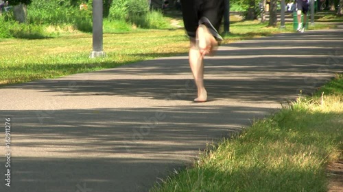
<path fill-rule="evenodd" d="M 224 43 L 292 31 L 292 23 L 282 30 L 266 25 L 257 20 L 235 22 L 230 25 L 231 33 L 225 36 Z M 330 26 L 316 25 L 318 29 Z M 88 58 L 92 51 L 90 33 L 72 31 L 55 38 L 0 39 L 0 86 L 185 54 L 188 46 L 183 29 L 104 33 L 107 57 L 96 59 Z"/>

